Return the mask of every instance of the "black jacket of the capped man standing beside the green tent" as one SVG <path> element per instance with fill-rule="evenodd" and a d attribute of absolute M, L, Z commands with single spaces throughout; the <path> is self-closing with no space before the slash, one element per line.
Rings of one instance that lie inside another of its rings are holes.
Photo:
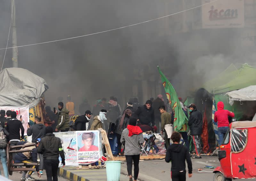
<path fill-rule="evenodd" d="M 190 113 L 188 120 L 188 125 L 190 126 L 190 135 L 201 135 L 203 132 L 203 120 L 202 114 L 196 108 Z"/>

